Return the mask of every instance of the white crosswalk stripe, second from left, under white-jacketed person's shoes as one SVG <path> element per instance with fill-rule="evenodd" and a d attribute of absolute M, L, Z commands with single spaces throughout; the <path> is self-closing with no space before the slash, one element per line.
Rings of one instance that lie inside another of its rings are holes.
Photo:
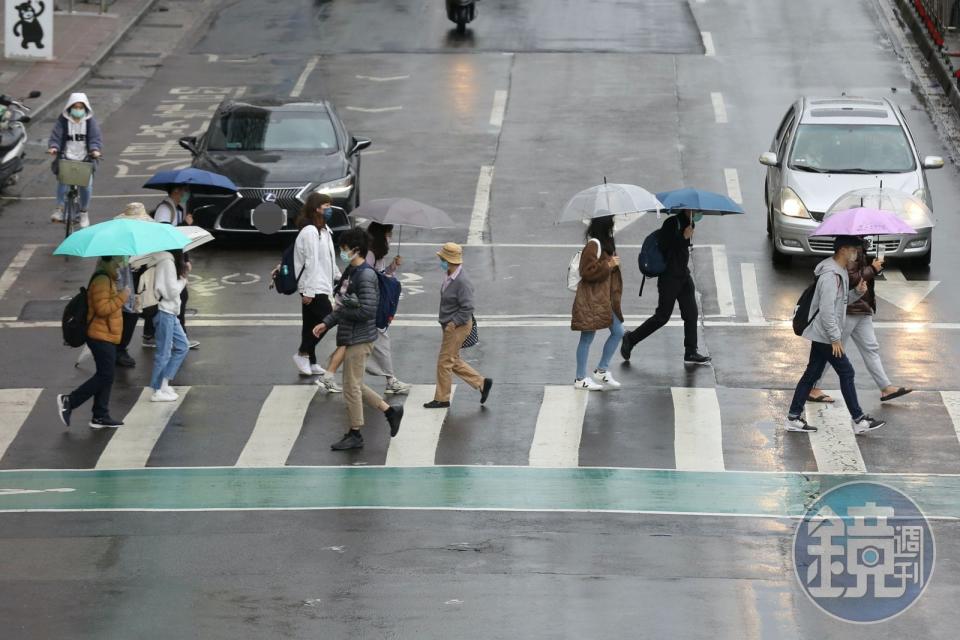
<path fill-rule="evenodd" d="M 143 390 L 133 409 L 123 419 L 123 426 L 116 430 L 100 454 L 97 469 L 138 469 L 147 466 L 160 434 L 190 391 L 190 387 L 175 389 L 180 395 L 175 402 L 150 402 L 153 389 L 147 387 Z"/>

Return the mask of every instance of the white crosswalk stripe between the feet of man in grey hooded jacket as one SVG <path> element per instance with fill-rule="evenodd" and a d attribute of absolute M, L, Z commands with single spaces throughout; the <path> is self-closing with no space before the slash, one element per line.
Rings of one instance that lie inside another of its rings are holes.
<path fill-rule="evenodd" d="M 839 391 L 826 391 L 836 401 L 833 405 L 807 403 L 807 422 L 817 427 L 811 433 L 810 446 L 820 473 L 866 473 L 867 465 L 860 454 L 860 445 L 853 434 L 850 413 Z M 800 435 L 802 434 L 790 434 Z"/>

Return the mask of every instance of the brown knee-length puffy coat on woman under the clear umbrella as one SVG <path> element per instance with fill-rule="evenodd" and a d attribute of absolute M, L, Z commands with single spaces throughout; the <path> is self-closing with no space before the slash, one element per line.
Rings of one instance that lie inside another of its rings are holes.
<path fill-rule="evenodd" d="M 574 331 L 609 329 L 613 314 L 623 322 L 620 298 L 623 297 L 623 276 L 620 267 L 611 268 L 609 253 L 597 257 L 597 243 L 590 241 L 580 253 L 580 284 L 573 299 Z"/>

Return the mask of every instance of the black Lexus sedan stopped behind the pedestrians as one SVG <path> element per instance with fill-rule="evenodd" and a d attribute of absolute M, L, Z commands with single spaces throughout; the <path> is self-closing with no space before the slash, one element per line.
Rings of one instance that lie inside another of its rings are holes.
<path fill-rule="evenodd" d="M 233 180 L 236 196 L 195 194 L 196 223 L 211 231 L 257 232 L 254 210 L 275 202 L 281 231 L 296 231 L 295 220 L 310 193 L 326 193 L 343 213 L 334 230 L 350 226 L 345 213 L 360 202 L 360 152 L 370 140 L 351 136 L 327 101 L 227 100 L 207 131 L 180 139 L 193 154 L 192 166 Z"/>

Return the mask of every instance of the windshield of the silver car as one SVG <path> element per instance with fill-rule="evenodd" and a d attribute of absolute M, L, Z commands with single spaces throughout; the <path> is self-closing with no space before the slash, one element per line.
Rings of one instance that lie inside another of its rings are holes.
<path fill-rule="evenodd" d="M 790 168 L 816 173 L 906 173 L 916 163 L 903 129 L 884 124 L 802 124 Z"/>

